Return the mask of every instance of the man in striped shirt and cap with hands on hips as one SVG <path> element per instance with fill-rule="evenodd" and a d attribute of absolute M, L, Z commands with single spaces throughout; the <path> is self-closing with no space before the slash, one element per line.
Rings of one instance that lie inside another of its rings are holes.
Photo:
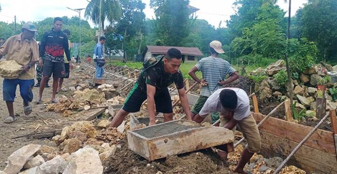
<path fill-rule="evenodd" d="M 218 57 L 219 54 L 225 53 L 222 49 L 222 44 L 219 41 L 212 41 L 210 43 L 210 53 L 210 57 L 202 58 L 188 72 L 193 80 L 202 86 L 199 98 L 191 110 L 192 119 L 195 115 L 199 114 L 202 106 L 214 91 L 240 77 L 237 71 L 230 66 L 228 61 Z M 197 77 L 197 71 L 201 71 L 202 79 Z M 225 80 L 227 75 L 229 75 L 229 78 Z M 212 113 L 212 123 L 218 119 L 219 113 Z"/>

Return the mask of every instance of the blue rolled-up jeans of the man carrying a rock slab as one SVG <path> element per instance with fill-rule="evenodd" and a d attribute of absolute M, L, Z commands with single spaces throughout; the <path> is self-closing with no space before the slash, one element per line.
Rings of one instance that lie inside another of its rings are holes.
<path fill-rule="evenodd" d="M 14 102 L 16 86 L 20 87 L 20 95 L 23 102 L 28 103 L 33 100 L 33 92 L 31 89 L 34 86 L 34 79 L 21 80 L 21 79 L 4 79 L 3 80 L 3 100 Z"/>

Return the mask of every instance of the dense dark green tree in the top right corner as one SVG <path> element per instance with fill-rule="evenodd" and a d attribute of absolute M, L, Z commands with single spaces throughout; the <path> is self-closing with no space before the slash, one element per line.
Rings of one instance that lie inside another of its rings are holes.
<path fill-rule="evenodd" d="M 337 0 L 309 0 L 300 18 L 302 37 L 317 43 L 320 60 L 337 56 Z"/>

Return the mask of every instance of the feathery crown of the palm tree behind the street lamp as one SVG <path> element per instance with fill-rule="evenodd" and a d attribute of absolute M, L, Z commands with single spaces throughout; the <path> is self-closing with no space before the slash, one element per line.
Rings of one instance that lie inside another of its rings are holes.
<path fill-rule="evenodd" d="M 84 16 L 91 18 L 94 24 L 99 25 L 100 2 L 102 1 L 102 24 L 104 29 L 104 21 L 107 19 L 110 23 L 118 21 L 122 15 L 121 5 L 118 0 L 91 0 L 85 9 Z"/>

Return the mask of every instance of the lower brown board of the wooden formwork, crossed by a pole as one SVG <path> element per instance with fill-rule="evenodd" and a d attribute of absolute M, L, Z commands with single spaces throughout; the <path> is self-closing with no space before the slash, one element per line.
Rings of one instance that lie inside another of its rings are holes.
<path fill-rule="evenodd" d="M 298 143 L 276 136 L 274 134 L 260 131 L 261 151 L 267 157 L 288 156 Z M 307 173 L 337 174 L 336 155 L 325 153 L 320 150 L 303 145 L 288 162 L 297 165 Z"/>

